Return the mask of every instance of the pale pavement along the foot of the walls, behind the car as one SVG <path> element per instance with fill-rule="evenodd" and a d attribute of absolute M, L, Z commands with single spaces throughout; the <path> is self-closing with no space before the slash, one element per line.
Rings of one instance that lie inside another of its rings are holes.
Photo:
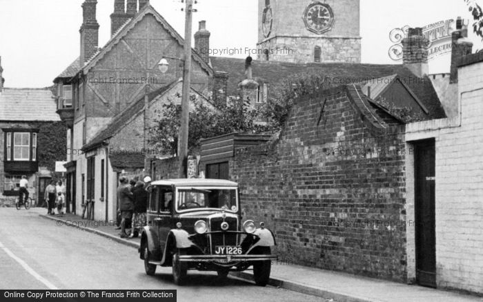
<path fill-rule="evenodd" d="M 72 225 L 75 228 L 92 232 L 107 239 L 123 243 L 133 248 L 139 247 L 139 239 L 121 239 L 119 230 L 114 225 L 101 225 L 101 222 L 87 221 L 72 214 L 63 217 L 47 216 L 45 209 L 31 209 L 39 211 L 39 215 L 46 219 L 57 221 L 59 225 Z M 251 271 L 232 272 L 230 276 L 253 282 Z M 275 262 L 270 274 L 270 285 L 294 292 L 309 294 L 337 302 L 482 302 L 482 297 L 424 288 L 418 285 L 406 285 L 364 276 L 355 276 L 342 272 L 308 268 L 300 265 Z"/>

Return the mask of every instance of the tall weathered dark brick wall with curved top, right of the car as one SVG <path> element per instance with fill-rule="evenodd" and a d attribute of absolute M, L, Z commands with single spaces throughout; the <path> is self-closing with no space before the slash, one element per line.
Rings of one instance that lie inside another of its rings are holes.
<path fill-rule="evenodd" d="M 236 151 L 244 217 L 290 262 L 404 281 L 404 131 L 376 132 L 336 92 L 322 119 L 321 97 L 298 101 L 278 143 Z"/>

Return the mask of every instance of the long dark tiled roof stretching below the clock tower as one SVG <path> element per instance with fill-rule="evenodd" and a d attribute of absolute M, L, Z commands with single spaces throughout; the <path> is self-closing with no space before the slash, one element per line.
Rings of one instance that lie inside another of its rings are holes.
<path fill-rule="evenodd" d="M 237 96 L 238 83 L 245 79 L 245 60 L 226 57 L 210 57 L 213 70 L 228 72 L 228 96 Z M 286 63 L 280 61 L 252 61 L 253 77 L 268 84 L 268 92 L 273 93 L 284 88 L 285 79 L 294 79 L 296 75 L 319 74 L 326 77 L 330 85 L 364 85 L 367 81 L 379 77 L 397 74 L 411 88 L 415 95 L 429 110 L 428 119 L 446 117 L 428 77 L 417 78 L 402 65 L 378 65 L 362 63 Z"/>

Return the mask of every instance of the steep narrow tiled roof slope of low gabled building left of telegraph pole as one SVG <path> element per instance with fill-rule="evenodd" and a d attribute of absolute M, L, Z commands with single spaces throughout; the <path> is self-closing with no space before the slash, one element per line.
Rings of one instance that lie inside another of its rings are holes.
<path fill-rule="evenodd" d="M 149 101 L 152 101 L 156 97 L 158 97 L 161 94 L 164 94 L 164 92 L 168 91 L 175 83 L 178 83 L 178 81 L 174 81 L 164 87 L 159 88 L 158 90 L 155 90 L 148 94 L 148 99 Z M 133 117 L 136 117 L 141 110 L 144 108 L 144 97 L 141 99 L 135 101 L 132 103 L 130 106 L 128 106 L 125 110 L 117 114 L 112 121 L 107 125 L 107 127 L 104 130 L 101 130 L 99 134 L 97 134 L 89 143 L 83 146 L 83 150 L 90 150 L 92 148 L 97 147 L 97 145 L 101 144 L 103 141 L 106 141 L 106 139 L 110 139 L 114 134 L 119 132 L 122 128 L 124 128 L 124 125 L 130 121 Z"/>

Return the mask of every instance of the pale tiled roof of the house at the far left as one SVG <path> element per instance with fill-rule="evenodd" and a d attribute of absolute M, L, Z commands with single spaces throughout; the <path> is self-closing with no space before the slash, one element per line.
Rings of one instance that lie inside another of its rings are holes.
<path fill-rule="evenodd" d="M 4 88 L 0 121 L 60 121 L 50 89 Z"/>

